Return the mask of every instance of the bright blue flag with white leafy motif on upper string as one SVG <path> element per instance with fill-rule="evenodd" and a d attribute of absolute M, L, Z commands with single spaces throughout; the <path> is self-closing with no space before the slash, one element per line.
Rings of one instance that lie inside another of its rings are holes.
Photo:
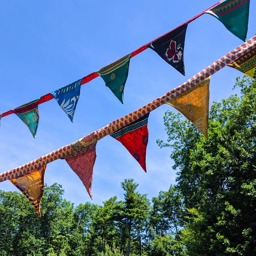
<path fill-rule="evenodd" d="M 51 92 L 55 100 L 57 100 L 58 104 L 64 110 L 64 112 L 68 115 L 72 123 L 73 123 L 76 104 L 80 96 L 81 81 L 82 79 L 79 79 L 54 92 Z"/>

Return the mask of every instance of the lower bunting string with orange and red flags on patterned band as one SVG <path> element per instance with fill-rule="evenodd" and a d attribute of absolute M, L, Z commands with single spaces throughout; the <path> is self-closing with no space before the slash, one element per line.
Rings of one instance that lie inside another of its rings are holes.
<path fill-rule="evenodd" d="M 44 172 L 49 162 L 65 159 L 79 176 L 92 199 L 91 186 L 96 160 L 97 141 L 106 135 L 121 142 L 146 172 L 149 113 L 167 103 L 180 111 L 206 137 L 209 112 L 210 76 L 226 65 L 237 62 L 256 50 L 256 37 L 226 54 L 182 85 L 167 92 L 142 108 L 117 119 L 85 137 L 59 148 L 25 165 L 0 174 L 0 182 L 10 180 L 28 198 L 40 216 L 40 201 L 44 189 Z M 248 65 L 248 64 L 247 64 Z"/>

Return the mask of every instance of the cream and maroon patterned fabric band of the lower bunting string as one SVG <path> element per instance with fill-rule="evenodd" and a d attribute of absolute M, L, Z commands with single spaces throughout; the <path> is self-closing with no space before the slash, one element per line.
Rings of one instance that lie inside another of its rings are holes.
<path fill-rule="evenodd" d="M 182 94 L 185 95 L 186 91 L 191 91 L 191 89 L 196 89 L 201 81 L 205 80 L 209 76 L 218 72 L 220 69 L 224 68 L 226 65 L 230 64 L 234 60 L 239 59 L 242 55 L 245 55 L 246 53 L 251 52 L 251 50 L 255 48 L 256 48 L 256 36 L 252 37 L 251 39 L 247 40 L 245 43 L 241 44 L 236 49 L 232 50 L 231 52 L 227 53 L 220 59 L 216 60 L 214 63 L 210 64 L 205 69 L 201 70 L 199 73 L 192 76 L 190 79 L 185 81 L 180 86 L 177 86 L 176 88 L 167 92 L 165 95 L 155 99 L 154 101 L 139 108 L 138 110 L 107 124 L 105 127 L 102 127 L 90 134 L 87 134 L 85 137 L 79 139 L 77 142 L 79 142 L 83 147 L 86 147 L 92 143 L 97 142 L 98 140 L 102 139 L 103 137 L 109 134 L 116 133 L 122 127 L 125 127 L 134 121 L 137 121 L 140 117 L 145 116 L 146 114 L 157 109 L 161 105 L 165 103 L 172 103 L 176 97 L 179 97 Z M 26 174 L 31 170 L 34 170 L 38 167 L 46 165 L 57 159 L 65 159 L 66 156 L 75 153 L 76 149 L 74 148 L 74 146 L 72 147 L 71 145 L 72 143 L 66 146 L 63 146 L 59 149 L 56 149 L 53 152 L 50 152 L 46 155 L 43 155 L 40 158 L 30 161 L 27 164 L 23 164 L 14 169 L 2 172 L 0 174 L 0 182 L 9 180 L 11 178 L 20 176 L 22 174 Z"/>

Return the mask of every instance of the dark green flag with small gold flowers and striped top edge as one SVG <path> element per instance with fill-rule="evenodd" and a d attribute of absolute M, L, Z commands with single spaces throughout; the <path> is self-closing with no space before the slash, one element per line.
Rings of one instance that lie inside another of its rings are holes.
<path fill-rule="evenodd" d="M 128 77 L 131 53 L 96 71 L 105 81 L 106 86 L 123 104 L 124 86 Z"/>

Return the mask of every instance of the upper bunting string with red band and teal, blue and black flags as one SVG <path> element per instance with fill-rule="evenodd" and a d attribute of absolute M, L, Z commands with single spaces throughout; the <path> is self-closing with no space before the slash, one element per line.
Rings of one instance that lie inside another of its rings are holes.
<path fill-rule="evenodd" d="M 39 97 L 37 100 L 26 103 L 25 105 L 14 108 L 13 110 L 1 113 L 0 120 L 2 117 L 15 113 L 28 126 L 30 132 L 35 138 L 39 122 L 38 105 L 55 98 L 59 106 L 68 115 L 70 121 L 73 122 L 76 104 L 80 96 L 80 86 L 91 81 L 97 76 L 101 76 L 101 78 L 105 81 L 106 86 L 109 87 L 118 100 L 123 103 L 124 86 L 128 77 L 130 58 L 143 52 L 147 48 L 153 49 L 168 64 L 173 66 L 182 75 L 185 75 L 183 52 L 188 23 L 192 22 L 204 13 L 208 13 L 218 18 L 218 20 L 221 21 L 231 33 L 245 41 L 248 29 L 249 5 L 250 0 L 220 1 L 186 21 L 182 25 L 145 44 L 116 62 L 113 62 L 104 68 L 101 68 L 96 72 L 91 73 L 90 75 L 87 75 L 84 78 L 68 84 L 58 90 Z M 255 53 L 251 53 L 251 55 L 253 54 Z M 247 57 L 245 57 L 245 59 L 246 58 Z M 246 74 L 252 77 L 255 77 L 255 63 L 256 62 L 253 58 L 250 60 L 248 67 L 247 64 L 241 65 L 241 62 L 233 63 L 231 66 L 244 73 L 246 72 Z"/>

